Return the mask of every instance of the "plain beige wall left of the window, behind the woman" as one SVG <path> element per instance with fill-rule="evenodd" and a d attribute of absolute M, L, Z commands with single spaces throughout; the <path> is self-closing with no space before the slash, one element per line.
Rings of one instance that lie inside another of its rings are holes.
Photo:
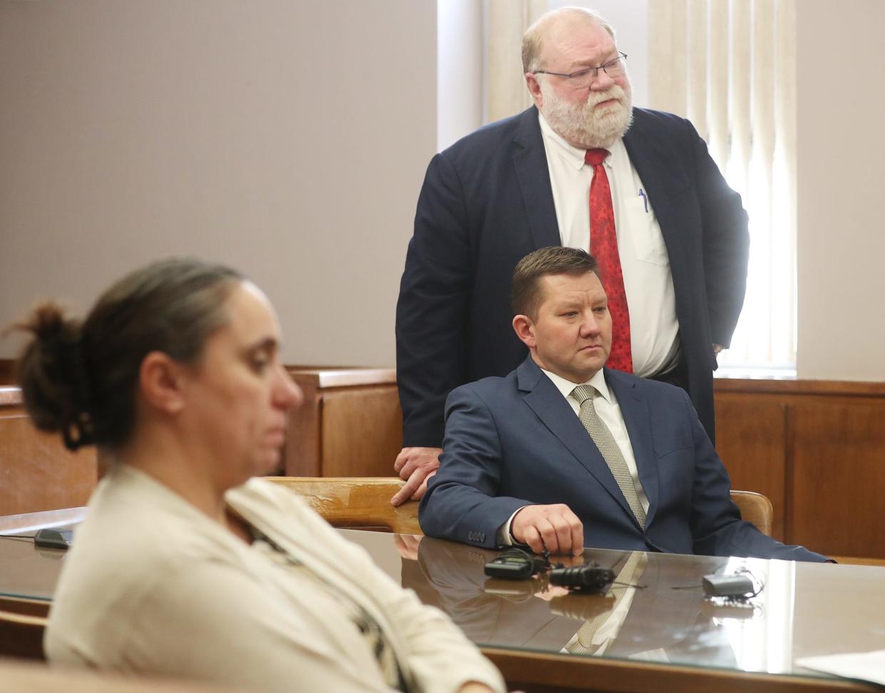
<path fill-rule="evenodd" d="M 392 366 L 435 42 L 412 0 L 0 0 L 0 325 L 197 254 L 266 290 L 288 362 Z"/>

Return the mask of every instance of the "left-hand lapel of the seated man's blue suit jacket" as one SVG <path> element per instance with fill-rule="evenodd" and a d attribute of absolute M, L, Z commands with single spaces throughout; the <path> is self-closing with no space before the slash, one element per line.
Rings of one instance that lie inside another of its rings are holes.
<path fill-rule="evenodd" d="M 581 466 L 593 475 L 609 495 L 618 501 L 624 512 L 633 518 L 633 511 L 630 510 L 627 499 L 624 498 L 618 482 L 612 476 L 612 470 L 605 464 L 596 444 L 590 439 L 587 429 L 574 415 L 572 408 L 556 385 L 541 372 L 531 356 L 528 356 L 519 366 L 517 378 L 519 390 L 525 393 L 523 400 L 535 412 L 538 419 L 550 430 L 550 433 L 558 438 L 560 443 L 566 446 L 574 458 L 581 463 Z"/>

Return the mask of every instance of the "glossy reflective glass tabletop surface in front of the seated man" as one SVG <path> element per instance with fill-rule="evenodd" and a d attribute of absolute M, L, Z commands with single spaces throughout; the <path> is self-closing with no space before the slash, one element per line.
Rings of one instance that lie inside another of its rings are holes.
<path fill-rule="evenodd" d="M 616 604 L 611 595 L 567 594 L 544 577 L 491 580 L 483 566 L 496 551 L 430 537 L 342 534 L 484 647 L 569 654 L 566 647 L 592 621 L 597 636 L 581 656 L 824 679 L 830 677 L 796 660 L 885 649 L 881 567 L 638 554 L 630 582 L 642 587 L 628 589 Z M 618 574 L 629 556 L 587 549 L 573 560 L 593 560 Z M 743 568 L 765 583 L 757 597 L 746 604 L 704 598 L 704 575 Z"/>

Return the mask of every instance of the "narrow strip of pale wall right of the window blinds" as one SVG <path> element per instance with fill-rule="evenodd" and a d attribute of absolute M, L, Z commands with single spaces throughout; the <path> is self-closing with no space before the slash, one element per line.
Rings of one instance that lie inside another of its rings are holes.
<path fill-rule="evenodd" d="M 885 3 L 797 2 L 800 378 L 885 381 Z"/>

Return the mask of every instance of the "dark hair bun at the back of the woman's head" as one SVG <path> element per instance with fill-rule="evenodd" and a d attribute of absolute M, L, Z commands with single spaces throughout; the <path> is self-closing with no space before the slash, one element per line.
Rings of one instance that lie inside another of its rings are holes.
<path fill-rule="evenodd" d="M 91 397 L 81 354 L 80 321 L 65 319 L 58 304 L 47 302 L 14 327 L 33 335 L 19 358 L 16 375 L 35 426 L 44 431 L 60 430 L 69 450 L 92 443 Z"/>

